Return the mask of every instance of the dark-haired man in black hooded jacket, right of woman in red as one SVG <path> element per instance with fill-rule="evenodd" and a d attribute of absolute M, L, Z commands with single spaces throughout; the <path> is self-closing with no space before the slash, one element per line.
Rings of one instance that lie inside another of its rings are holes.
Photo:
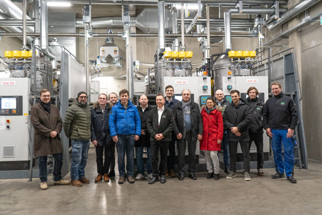
<path fill-rule="evenodd" d="M 228 128 L 228 145 L 230 155 L 230 172 L 227 179 L 236 177 L 236 154 L 238 142 L 242 149 L 244 161 L 244 177 L 250 181 L 249 171 L 251 169 L 250 156 L 248 150 L 249 134 L 248 124 L 251 122 L 251 109 L 240 98 L 238 90 L 230 92 L 232 103 L 228 105 L 223 113 L 223 123 Z"/>

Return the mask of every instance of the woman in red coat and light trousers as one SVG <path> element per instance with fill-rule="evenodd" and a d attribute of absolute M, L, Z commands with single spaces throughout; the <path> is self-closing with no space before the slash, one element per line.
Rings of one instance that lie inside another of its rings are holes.
<path fill-rule="evenodd" d="M 204 133 L 200 141 L 200 149 L 204 150 L 208 175 L 207 179 L 214 177 L 219 180 L 219 159 L 220 143 L 223 140 L 223 116 L 221 107 L 215 107 L 212 97 L 207 98 L 206 108 L 201 111 L 204 124 Z"/>

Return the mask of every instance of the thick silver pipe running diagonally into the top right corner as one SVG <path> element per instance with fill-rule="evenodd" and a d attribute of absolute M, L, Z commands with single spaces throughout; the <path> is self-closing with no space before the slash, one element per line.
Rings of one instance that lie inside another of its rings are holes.
<path fill-rule="evenodd" d="M 267 28 L 272 30 L 273 28 L 289 21 L 294 16 L 298 15 L 302 11 L 308 9 L 309 7 L 315 5 L 316 3 L 320 2 L 321 0 L 303 0 L 297 5 L 294 5 L 291 9 L 287 12 L 279 16 L 279 19 L 273 20 L 270 24 L 267 24 Z"/>

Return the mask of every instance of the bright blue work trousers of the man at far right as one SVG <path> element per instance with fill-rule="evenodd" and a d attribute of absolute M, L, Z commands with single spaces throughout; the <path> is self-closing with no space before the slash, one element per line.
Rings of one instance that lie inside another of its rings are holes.
<path fill-rule="evenodd" d="M 275 130 L 271 129 L 272 137 L 272 150 L 274 153 L 274 162 L 277 166 L 276 172 L 285 173 L 286 176 L 291 176 L 294 166 L 294 144 L 292 138 L 287 138 L 288 130 Z M 282 156 L 282 142 L 284 147 L 284 161 Z"/>

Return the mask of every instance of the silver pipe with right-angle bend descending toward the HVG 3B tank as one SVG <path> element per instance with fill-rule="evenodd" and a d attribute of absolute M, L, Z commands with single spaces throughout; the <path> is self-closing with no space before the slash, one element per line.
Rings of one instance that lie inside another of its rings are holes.
<path fill-rule="evenodd" d="M 225 52 L 232 50 L 232 14 L 240 14 L 238 8 L 228 8 L 224 13 L 225 20 Z M 274 8 L 243 8 L 242 14 L 275 14 Z"/>

